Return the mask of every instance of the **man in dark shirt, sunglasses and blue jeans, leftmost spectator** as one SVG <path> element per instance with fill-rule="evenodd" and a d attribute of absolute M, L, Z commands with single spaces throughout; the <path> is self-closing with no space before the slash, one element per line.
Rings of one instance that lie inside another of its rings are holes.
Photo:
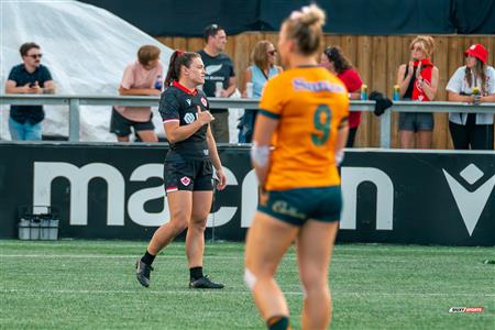
<path fill-rule="evenodd" d="M 22 64 L 10 70 L 6 94 L 53 94 L 55 84 L 48 68 L 41 64 L 43 54 L 35 43 L 24 43 L 20 48 Z M 42 140 L 41 122 L 45 118 L 43 106 L 11 106 L 9 131 L 12 140 Z"/>

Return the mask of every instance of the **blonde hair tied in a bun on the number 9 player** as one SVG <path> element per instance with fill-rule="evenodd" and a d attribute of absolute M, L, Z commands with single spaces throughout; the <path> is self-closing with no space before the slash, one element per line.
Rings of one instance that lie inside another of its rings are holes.
<path fill-rule="evenodd" d="M 287 38 L 296 42 L 298 51 L 302 55 L 312 55 L 320 47 L 324 20 L 324 11 L 312 3 L 302 7 L 300 11 L 293 11 L 283 25 L 286 28 Z"/>

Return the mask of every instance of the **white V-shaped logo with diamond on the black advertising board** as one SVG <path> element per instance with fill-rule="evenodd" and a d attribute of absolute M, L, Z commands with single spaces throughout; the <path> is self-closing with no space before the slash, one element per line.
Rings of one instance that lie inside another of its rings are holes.
<path fill-rule="evenodd" d="M 458 205 L 459 211 L 461 212 L 462 220 L 464 220 L 465 228 L 471 237 L 477 224 L 477 220 L 480 220 L 483 209 L 486 206 L 486 201 L 492 194 L 493 187 L 495 186 L 495 175 L 487 179 L 486 183 L 476 190 L 469 191 L 446 169 L 442 170 L 455 204 Z M 460 173 L 460 175 L 468 184 L 473 185 L 483 177 L 484 173 L 477 168 L 476 165 L 470 164 Z"/>

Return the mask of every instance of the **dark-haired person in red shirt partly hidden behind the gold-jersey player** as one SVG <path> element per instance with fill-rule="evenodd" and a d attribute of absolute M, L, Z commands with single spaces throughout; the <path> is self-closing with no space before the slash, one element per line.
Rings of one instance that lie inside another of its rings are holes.
<path fill-rule="evenodd" d="M 351 62 L 344 56 L 342 50 L 338 46 L 327 47 L 321 54 L 320 65 L 337 75 L 345 85 L 349 91 L 349 99 L 361 99 L 361 80 L 360 74 L 354 69 Z M 351 111 L 349 113 L 349 135 L 345 147 L 353 147 L 358 127 L 361 123 L 361 111 Z"/>

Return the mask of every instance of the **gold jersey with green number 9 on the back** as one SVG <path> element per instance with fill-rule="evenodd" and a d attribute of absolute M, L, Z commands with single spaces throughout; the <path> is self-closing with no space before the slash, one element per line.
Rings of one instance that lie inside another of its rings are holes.
<path fill-rule="evenodd" d="M 279 120 L 265 189 L 340 185 L 336 142 L 349 97 L 339 78 L 321 67 L 288 69 L 266 84 L 260 108 Z"/>

